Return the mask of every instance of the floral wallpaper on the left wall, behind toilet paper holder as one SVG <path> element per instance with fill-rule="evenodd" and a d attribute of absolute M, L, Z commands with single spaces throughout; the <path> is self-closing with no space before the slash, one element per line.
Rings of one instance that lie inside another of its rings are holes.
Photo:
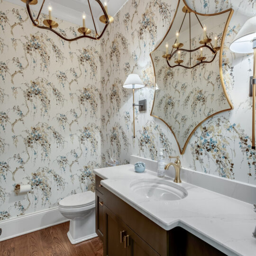
<path fill-rule="evenodd" d="M 67 37 L 78 33 L 58 23 Z M 0 1 L 0 220 L 94 190 L 102 63 L 100 42 L 66 42 L 33 27 L 25 8 Z M 18 183 L 31 192 L 16 195 Z"/>

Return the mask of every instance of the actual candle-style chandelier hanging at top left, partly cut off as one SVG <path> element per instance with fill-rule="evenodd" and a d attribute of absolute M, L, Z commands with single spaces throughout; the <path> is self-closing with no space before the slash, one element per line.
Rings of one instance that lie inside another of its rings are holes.
<path fill-rule="evenodd" d="M 95 21 L 94 21 L 93 13 L 92 13 L 92 10 L 91 10 L 90 0 L 88 0 L 88 5 L 89 5 L 89 8 L 90 8 L 90 12 L 91 12 L 91 18 L 92 18 L 94 29 L 95 29 L 95 36 L 94 37 L 89 36 L 91 34 L 91 29 L 88 28 L 88 27 L 85 27 L 85 18 L 86 18 L 86 16 L 85 16 L 85 12 L 83 12 L 83 14 L 82 14 L 82 25 L 83 26 L 78 28 L 78 32 L 80 34 L 82 34 L 82 36 L 74 37 L 74 38 L 66 38 L 62 34 L 58 33 L 55 29 L 53 29 L 53 28 L 58 27 L 59 25 L 52 17 L 52 6 L 51 5 L 48 6 L 49 18 L 45 19 L 43 21 L 43 24 L 45 26 L 39 25 L 38 20 L 39 20 L 42 8 L 44 6 L 45 0 L 43 0 L 43 3 L 40 7 L 40 10 L 38 12 L 38 15 L 37 15 L 36 19 L 33 18 L 29 5 L 36 5 L 38 1 L 37 0 L 21 0 L 21 1 L 26 3 L 27 13 L 28 13 L 29 18 L 32 21 L 33 26 L 53 31 L 56 35 L 58 35 L 59 37 L 61 37 L 62 39 L 66 40 L 66 41 L 74 41 L 74 40 L 77 40 L 77 39 L 80 39 L 80 38 L 83 38 L 83 37 L 91 38 L 91 39 L 94 39 L 94 40 L 99 40 L 103 36 L 103 34 L 106 31 L 106 28 L 109 26 L 109 24 L 114 21 L 114 18 L 112 16 L 108 15 L 107 3 L 105 2 L 104 6 L 103 6 L 100 0 L 94 0 L 99 4 L 99 6 L 101 7 L 101 9 L 104 13 L 100 17 L 100 21 L 105 24 L 105 27 L 103 28 L 103 30 L 101 31 L 101 34 L 99 35 L 98 31 L 97 31 L 97 28 L 95 26 Z"/>

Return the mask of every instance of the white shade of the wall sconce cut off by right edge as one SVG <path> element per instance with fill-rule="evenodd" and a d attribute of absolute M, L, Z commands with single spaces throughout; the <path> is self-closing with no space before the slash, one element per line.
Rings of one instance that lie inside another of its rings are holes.
<path fill-rule="evenodd" d="M 256 16 L 249 18 L 239 30 L 229 49 L 235 53 L 253 53 L 252 39 L 256 37 Z"/>

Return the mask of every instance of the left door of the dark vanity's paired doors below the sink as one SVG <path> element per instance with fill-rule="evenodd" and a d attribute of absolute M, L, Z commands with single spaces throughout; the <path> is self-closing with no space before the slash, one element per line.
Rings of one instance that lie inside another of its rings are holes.
<path fill-rule="evenodd" d="M 127 248 L 124 247 L 124 229 L 119 218 L 103 205 L 105 230 L 103 238 L 104 256 L 126 256 Z"/>

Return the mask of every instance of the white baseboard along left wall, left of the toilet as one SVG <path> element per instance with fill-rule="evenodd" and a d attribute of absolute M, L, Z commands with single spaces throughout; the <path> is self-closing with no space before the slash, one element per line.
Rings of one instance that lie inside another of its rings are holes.
<path fill-rule="evenodd" d="M 69 221 L 69 219 L 61 215 L 58 207 L 2 220 L 0 221 L 0 229 L 2 229 L 0 241 L 45 229 L 66 221 Z"/>

